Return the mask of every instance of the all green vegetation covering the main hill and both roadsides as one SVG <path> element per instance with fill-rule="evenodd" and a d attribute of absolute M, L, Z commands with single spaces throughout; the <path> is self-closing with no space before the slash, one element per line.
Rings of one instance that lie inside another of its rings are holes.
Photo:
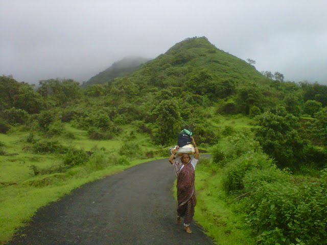
<path fill-rule="evenodd" d="M 0 77 L 0 243 L 72 189 L 168 157 L 183 128 L 212 154 L 195 218 L 217 244 L 326 243 L 327 86 L 258 72 L 205 37 L 100 75 Z"/>

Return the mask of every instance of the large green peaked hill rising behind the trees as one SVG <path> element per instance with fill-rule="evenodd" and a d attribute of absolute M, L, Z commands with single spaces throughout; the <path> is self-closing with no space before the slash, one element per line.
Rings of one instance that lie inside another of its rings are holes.
<path fill-rule="evenodd" d="M 283 97 L 273 80 L 205 37 L 175 44 L 129 77 L 116 78 L 109 87 L 110 92 L 122 95 L 121 100 L 129 101 L 163 88 L 206 96 L 212 102 L 222 100 L 220 112 L 227 114 L 249 114 L 253 106 L 263 111 Z"/>

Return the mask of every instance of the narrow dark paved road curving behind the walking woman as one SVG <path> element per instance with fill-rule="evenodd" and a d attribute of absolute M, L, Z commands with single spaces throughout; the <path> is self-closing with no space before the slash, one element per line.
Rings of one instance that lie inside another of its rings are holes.
<path fill-rule="evenodd" d="M 8 244 L 214 244 L 194 221 L 192 234 L 176 224 L 174 180 L 162 159 L 85 184 L 39 209 Z"/>

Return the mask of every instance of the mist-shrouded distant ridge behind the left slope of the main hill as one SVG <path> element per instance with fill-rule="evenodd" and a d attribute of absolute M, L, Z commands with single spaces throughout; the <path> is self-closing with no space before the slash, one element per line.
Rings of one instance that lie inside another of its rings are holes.
<path fill-rule="evenodd" d="M 109 68 L 90 78 L 87 82 L 83 83 L 82 87 L 104 84 L 115 78 L 128 76 L 149 60 L 150 59 L 143 57 L 125 57 L 120 61 L 114 62 Z"/>

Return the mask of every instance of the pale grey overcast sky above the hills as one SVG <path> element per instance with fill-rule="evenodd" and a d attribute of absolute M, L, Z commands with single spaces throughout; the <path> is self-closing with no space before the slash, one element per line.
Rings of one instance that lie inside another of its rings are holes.
<path fill-rule="evenodd" d="M 259 71 L 327 84 L 326 13 L 326 0 L 0 0 L 0 75 L 83 82 L 205 36 Z"/>

